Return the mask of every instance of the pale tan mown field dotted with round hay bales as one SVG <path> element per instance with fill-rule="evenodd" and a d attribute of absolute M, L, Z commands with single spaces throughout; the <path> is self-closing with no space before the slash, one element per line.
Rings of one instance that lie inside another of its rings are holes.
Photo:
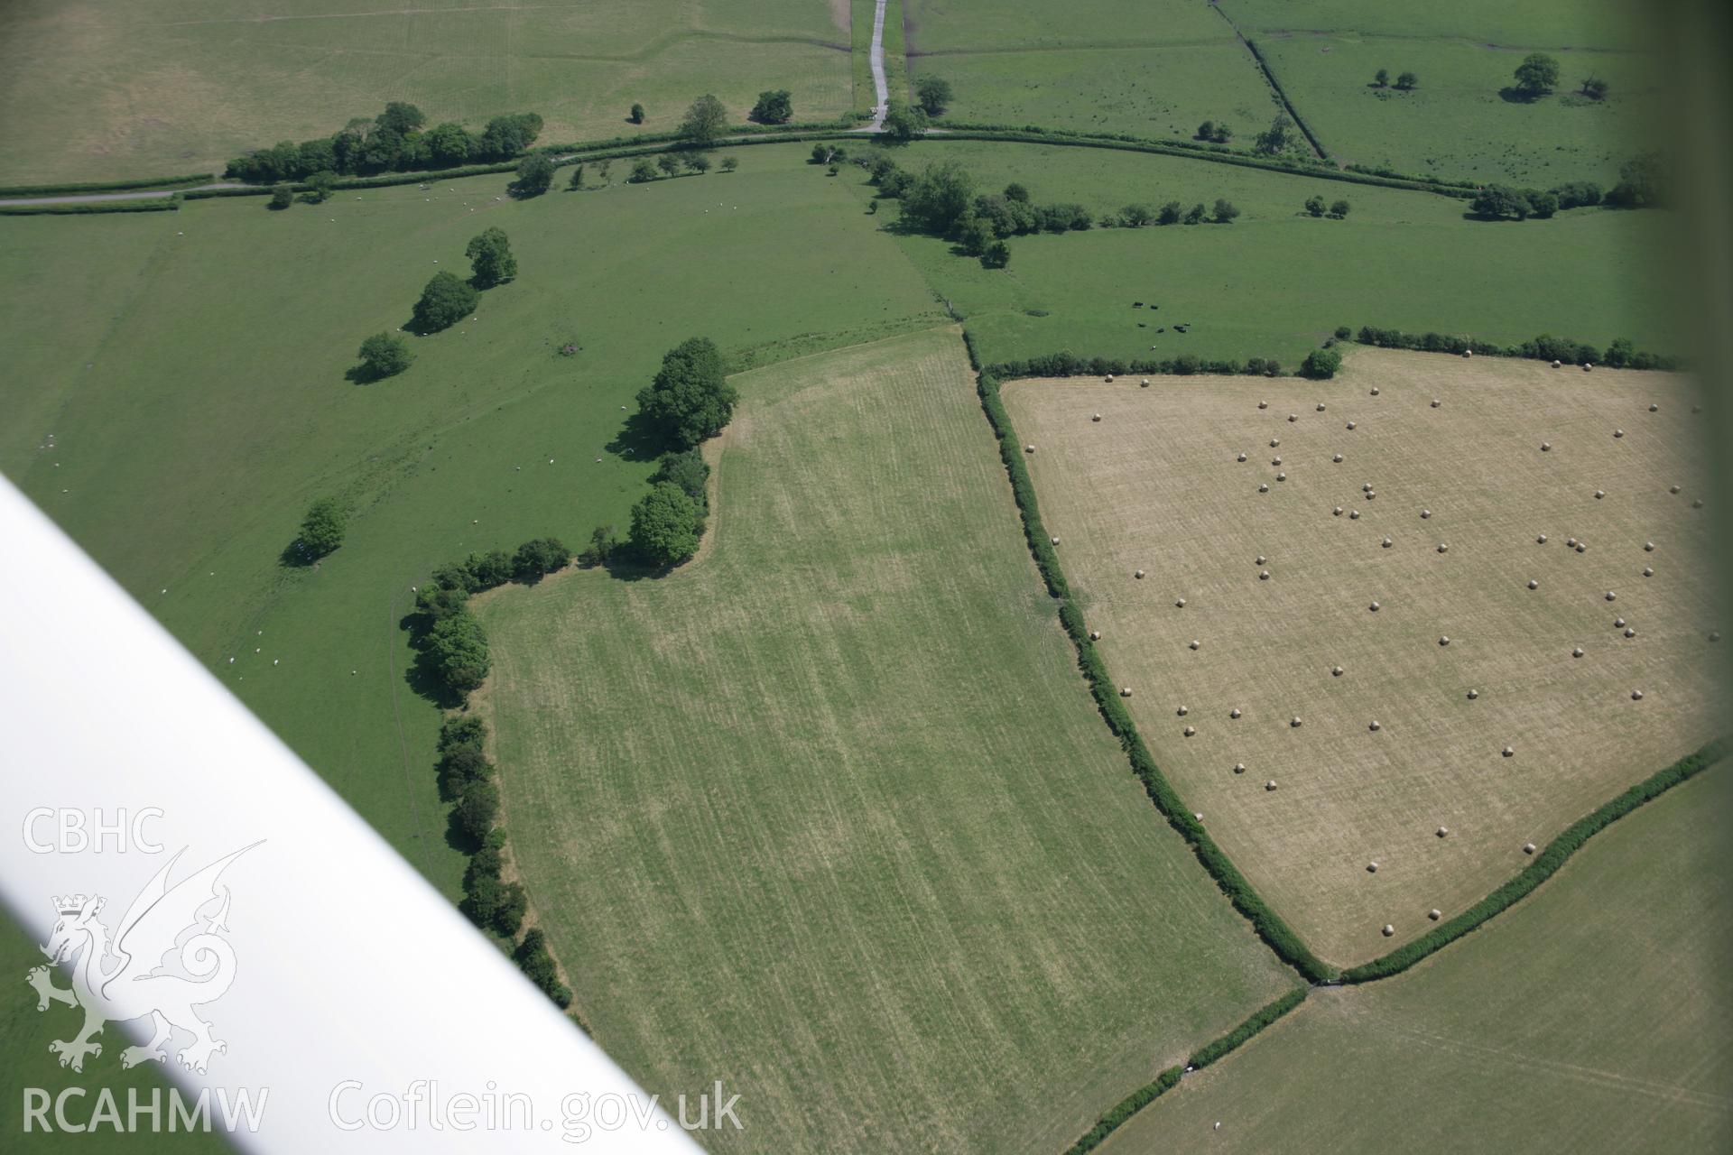
<path fill-rule="evenodd" d="M 1353 350 L 1326 383 L 1005 402 L 1158 764 L 1333 963 L 1457 914 L 1716 732 L 1714 507 L 1693 507 L 1681 377 Z"/>

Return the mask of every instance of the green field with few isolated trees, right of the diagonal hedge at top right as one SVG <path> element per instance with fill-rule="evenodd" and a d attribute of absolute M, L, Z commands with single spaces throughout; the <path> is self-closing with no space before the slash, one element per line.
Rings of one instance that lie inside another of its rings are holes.
<path fill-rule="evenodd" d="M 1347 33 L 1263 36 L 1258 48 L 1340 163 L 1423 177 L 1610 189 L 1619 166 L 1652 147 L 1664 107 L 1655 61 L 1631 52 L 1563 54 L 1558 92 L 1523 102 L 1501 95 L 1522 54 L 1478 43 Z M 1421 83 L 1374 88 L 1379 68 L 1412 69 Z M 1606 80 L 1610 95 L 1582 97 L 1586 76 Z"/>

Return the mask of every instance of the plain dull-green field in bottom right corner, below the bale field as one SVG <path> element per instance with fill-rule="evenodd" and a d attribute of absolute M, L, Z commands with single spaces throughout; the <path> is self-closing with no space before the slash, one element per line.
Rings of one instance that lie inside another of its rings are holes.
<path fill-rule="evenodd" d="M 1724 1152 L 1730 807 L 1726 765 L 1674 788 L 1416 970 L 1315 990 L 1100 1150 Z"/>

